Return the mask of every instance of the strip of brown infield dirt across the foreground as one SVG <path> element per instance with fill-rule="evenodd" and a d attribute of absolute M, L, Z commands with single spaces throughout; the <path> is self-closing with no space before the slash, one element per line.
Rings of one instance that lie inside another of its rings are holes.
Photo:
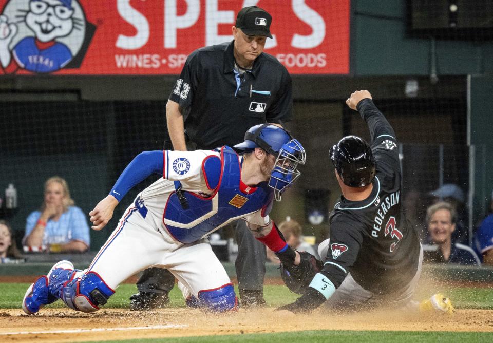
<path fill-rule="evenodd" d="M 74 342 L 300 330 L 402 330 L 493 332 L 493 310 L 458 310 L 453 316 L 372 311 L 310 315 L 275 312 L 274 309 L 239 310 L 227 315 L 204 314 L 192 309 L 132 312 L 105 309 L 80 313 L 42 309 L 28 316 L 22 310 L 0 311 L 0 341 Z M 92 330 L 92 331 L 88 331 Z"/>

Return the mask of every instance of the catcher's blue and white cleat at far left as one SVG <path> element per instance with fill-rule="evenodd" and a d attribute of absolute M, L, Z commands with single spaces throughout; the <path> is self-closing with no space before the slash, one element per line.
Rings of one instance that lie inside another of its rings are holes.
<path fill-rule="evenodd" d="M 52 275 L 54 276 L 54 274 L 56 274 L 56 272 L 66 269 L 72 270 L 73 264 L 69 261 L 57 262 L 51 267 L 48 275 L 39 277 L 33 284 L 31 284 L 28 287 L 22 301 L 23 311 L 27 314 L 34 314 L 43 306 L 55 302 L 58 298 L 50 294 L 49 280 Z"/>

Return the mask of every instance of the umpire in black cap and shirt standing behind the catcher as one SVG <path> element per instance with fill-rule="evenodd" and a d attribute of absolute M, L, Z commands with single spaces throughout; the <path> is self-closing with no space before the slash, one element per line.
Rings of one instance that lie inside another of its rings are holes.
<path fill-rule="evenodd" d="M 254 125 L 281 126 L 291 120 L 291 77 L 274 56 L 262 52 L 267 37 L 272 38 L 271 22 L 265 10 L 244 7 L 232 28 L 232 42 L 200 48 L 188 56 L 166 104 L 175 150 L 233 146 Z M 236 222 L 235 237 L 240 304 L 243 308 L 264 306 L 266 248 L 242 220 Z M 139 293 L 130 297 L 131 309 L 165 306 L 173 285 L 174 277 L 167 270 L 145 270 L 137 282 Z"/>

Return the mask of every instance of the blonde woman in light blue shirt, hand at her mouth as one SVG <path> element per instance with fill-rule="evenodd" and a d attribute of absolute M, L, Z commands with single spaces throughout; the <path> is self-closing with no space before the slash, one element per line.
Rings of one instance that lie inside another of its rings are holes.
<path fill-rule="evenodd" d="M 89 225 L 82 210 L 73 206 L 67 182 L 51 177 L 45 182 L 44 192 L 40 211 L 27 217 L 24 249 L 53 253 L 88 250 Z"/>

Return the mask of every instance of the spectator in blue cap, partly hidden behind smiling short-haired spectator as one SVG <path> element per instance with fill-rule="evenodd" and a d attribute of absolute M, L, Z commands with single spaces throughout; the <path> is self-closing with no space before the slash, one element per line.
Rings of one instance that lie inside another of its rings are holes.
<path fill-rule="evenodd" d="M 467 242 L 469 239 L 468 214 L 465 205 L 466 198 L 461 187 L 453 183 L 445 183 L 428 194 L 432 197 L 432 204 L 445 201 L 452 205 L 457 214 L 456 230 L 452 234 L 452 240 L 461 243 Z"/>

